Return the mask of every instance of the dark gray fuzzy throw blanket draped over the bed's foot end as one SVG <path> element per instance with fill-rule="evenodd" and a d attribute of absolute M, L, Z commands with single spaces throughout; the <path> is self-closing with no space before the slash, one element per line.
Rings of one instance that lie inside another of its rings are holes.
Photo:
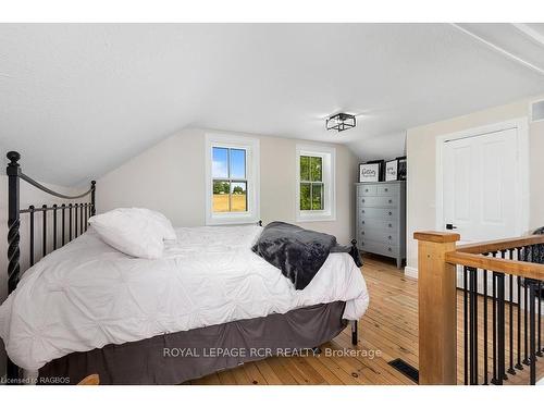
<path fill-rule="evenodd" d="M 297 290 L 311 282 L 331 252 L 349 252 L 362 265 L 357 248 L 337 245 L 335 236 L 280 221 L 268 224 L 251 249 L 279 268 Z"/>

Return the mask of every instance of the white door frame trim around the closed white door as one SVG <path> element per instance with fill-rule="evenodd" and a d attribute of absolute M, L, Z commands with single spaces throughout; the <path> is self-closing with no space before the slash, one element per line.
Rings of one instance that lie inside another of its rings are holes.
<path fill-rule="evenodd" d="M 516 235 L 529 230 L 529 121 L 517 118 L 505 122 L 472 127 L 436 136 L 436 231 L 446 231 L 444 223 L 444 148 L 446 141 L 517 129 L 518 165 L 516 169 Z M 462 238 L 462 237 L 461 237 Z"/>

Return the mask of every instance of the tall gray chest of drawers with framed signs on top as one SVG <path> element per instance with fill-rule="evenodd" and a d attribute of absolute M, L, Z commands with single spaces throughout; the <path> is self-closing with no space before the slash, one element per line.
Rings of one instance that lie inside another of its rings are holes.
<path fill-rule="evenodd" d="M 357 183 L 356 238 L 364 252 L 406 258 L 406 182 Z"/>

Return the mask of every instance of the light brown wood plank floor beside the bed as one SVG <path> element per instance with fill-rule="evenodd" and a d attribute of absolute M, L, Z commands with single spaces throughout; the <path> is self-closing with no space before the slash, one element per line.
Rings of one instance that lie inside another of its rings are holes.
<path fill-rule="evenodd" d="M 187 384 L 413 385 L 410 379 L 392 368 L 388 361 L 401 358 L 418 368 L 418 281 L 406 277 L 401 270 L 381 258 L 366 257 L 362 274 L 370 293 L 370 307 L 359 322 L 357 346 L 351 345 L 351 333 L 347 327 L 332 342 L 324 344 L 322 354 L 317 357 L 271 357 L 193 380 Z M 460 296 L 459 293 L 459 299 Z M 458 301 L 458 381 L 462 383 L 461 301 Z M 483 345 L 483 341 L 481 343 Z M 357 350 L 358 354 L 354 357 L 334 355 L 344 349 Z M 481 363 L 483 364 L 483 357 Z M 510 383 L 527 384 L 528 375 L 529 370 L 526 368 Z M 544 376 L 542 368 L 539 378 L 541 376 Z"/>

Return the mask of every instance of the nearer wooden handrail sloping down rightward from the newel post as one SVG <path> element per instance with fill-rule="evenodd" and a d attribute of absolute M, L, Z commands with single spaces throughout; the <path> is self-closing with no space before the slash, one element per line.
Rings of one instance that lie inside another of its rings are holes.
<path fill-rule="evenodd" d="M 465 254 L 459 250 L 447 252 L 446 262 L 544 281 L 544 264 L 541 263 L 485 257 L 477 254 Z"/>

